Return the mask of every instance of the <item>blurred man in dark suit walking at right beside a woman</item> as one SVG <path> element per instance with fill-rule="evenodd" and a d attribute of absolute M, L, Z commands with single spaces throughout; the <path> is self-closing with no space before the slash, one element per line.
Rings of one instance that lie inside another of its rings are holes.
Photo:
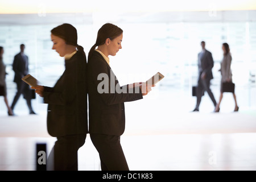
<path fill-rule="evenodd" d="M 196 91 L 196 107 L 193 111 L 199 111 L 199 105 L 201 98 L 205 91 L 207 91 L 210 99 L 213 102 L 214 108 L 217 104 L 212 90 L 210 90 L 210 80 L 213 79 L 212 68 L 213 68 L 213 58 L 212 53 L 205 49 L 205 42 L 201 42 L 202 51 L 198 54 L 198 68 L 199 68 L 199 78 L 197 82 L 197 91 Z"/>

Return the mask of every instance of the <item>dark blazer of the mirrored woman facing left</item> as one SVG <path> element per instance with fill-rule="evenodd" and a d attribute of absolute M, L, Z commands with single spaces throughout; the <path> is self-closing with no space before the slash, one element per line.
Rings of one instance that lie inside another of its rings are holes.
<path fill-rule="evenodd" d="M 86 57 L 80 51 L 65 60 L 65 71 L 53 88 L 44 87 L 47 129 L 52 137 L 88 133 Z"/>

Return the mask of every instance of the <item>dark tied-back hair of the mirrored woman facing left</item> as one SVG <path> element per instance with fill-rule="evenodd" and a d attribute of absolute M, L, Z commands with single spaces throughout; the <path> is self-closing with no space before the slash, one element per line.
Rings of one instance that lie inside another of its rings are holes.
<path fill-rule="evenodd" d="M 65 43 L 76 46 L 77 50 L 85 55 L 84 48 L 77 44 L 77 31 L 71 24 L 64 23 L 51 30 L 51 33 L 65 40 Z"/>

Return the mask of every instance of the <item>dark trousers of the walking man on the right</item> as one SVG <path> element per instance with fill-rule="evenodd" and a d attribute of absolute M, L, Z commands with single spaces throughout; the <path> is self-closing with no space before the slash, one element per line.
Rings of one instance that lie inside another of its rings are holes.
<path fill-rule="evenodd" d="M 213 96 L 212 90 L 210 89 L 210 80 L 200 78 L 198 85 L 197 85 L 197 91 L 196 91 L 196 97 L 197 97 L 196 109 L 199 109 L 201 98 L 205 91 L 207 91 L 210 99 L 213 102 L 214 107 L 217 105 L 216 100 Z"/>

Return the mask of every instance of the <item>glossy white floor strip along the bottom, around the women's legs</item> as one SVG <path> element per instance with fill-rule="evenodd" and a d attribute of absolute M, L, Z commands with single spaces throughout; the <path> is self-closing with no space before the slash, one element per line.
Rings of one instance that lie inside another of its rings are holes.
<path fill-rule="evenodd" d="M 170 134 L 123 136 L 130 170 L 256 170 L 256 134 Z M 35 143 L 53 138 L 1 138 L 1 170 L 35 170 Z M 79 170 L 98 171 L 100 160 L 90 138 L 79 150 Z"/>

